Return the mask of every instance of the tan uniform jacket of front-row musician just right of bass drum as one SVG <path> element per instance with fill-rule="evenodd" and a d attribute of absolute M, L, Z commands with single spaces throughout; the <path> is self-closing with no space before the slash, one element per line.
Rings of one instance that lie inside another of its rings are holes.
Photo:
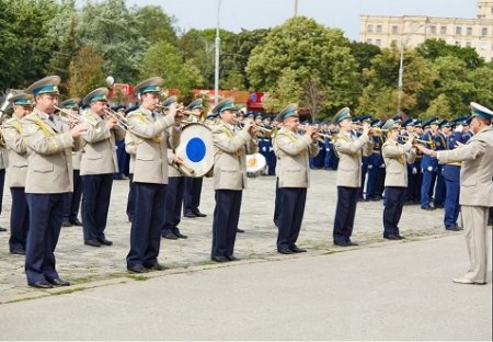
<path fill-rule="evenodd" d="M 245 156 L 256 151 L 249 133 L 220 123 L 213 127 L 214 189 L 243 190 L 246 186 Z"/>

